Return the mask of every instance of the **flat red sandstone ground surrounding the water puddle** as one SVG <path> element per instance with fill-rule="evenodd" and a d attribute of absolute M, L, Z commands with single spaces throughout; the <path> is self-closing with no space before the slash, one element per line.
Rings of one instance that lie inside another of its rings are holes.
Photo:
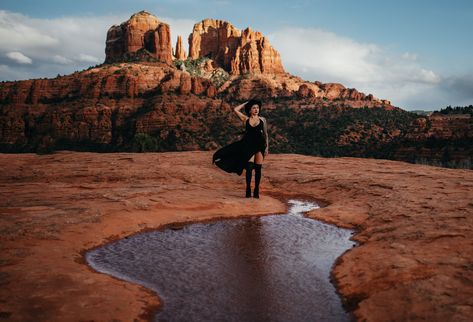
<path fill-rule="evenodd" d="M 0 154 L 0 303 L 10 321 L 142 321 L 159 294 L 84 253 L 173 223 L 283 213 L 356 230 L 332 277 L 359 321 L 471 321 L 473 172 L 399 161 L 269 155 L 260 200 L 210 151 Z"/>

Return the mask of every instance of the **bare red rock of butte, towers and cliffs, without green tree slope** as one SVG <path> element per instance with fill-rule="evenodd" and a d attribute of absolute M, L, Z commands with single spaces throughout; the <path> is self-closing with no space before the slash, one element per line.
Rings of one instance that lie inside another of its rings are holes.
<path fill-rule="evenodd" d="M 205 126 L 184 113 L 230 108 L 255 96 L 268 110 L 331 104 L 396 109 L 372 94 L 284 72 L 279 54 L 260 32 L 240 31 L 221 20 L 202 20 L 189 36 L 189 57 L 210 58 L 202 76 L 172 65 L 186 55 L 182 39 L 173 57 L 169 25 L 146 11 L 112 26 L 105 52 L 105 63 L 88 70 L 1 83 L 0 145 L 47 146 L 58 140 L 119 145 L 135 133 L 175 130 L 178 123 Z M 211 79 L 219 70 L 229 73 L 221 84 Z M 178 147 L 197 148 L 195 143 Z"/>

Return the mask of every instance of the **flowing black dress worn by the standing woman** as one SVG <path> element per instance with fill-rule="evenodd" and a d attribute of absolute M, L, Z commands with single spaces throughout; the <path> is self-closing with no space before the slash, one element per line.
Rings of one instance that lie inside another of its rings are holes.
<path fill-rule="evenodd" d="M 266 138 L 263 119 L 260 118 L 259 124 L 253 127 L 248 118 L 243 138 L 217 150 L 212 160 L 220 169 L 241 175 L 248 160 L 257 152 L 261 152 L 264 156 L 265 150 Z"/>

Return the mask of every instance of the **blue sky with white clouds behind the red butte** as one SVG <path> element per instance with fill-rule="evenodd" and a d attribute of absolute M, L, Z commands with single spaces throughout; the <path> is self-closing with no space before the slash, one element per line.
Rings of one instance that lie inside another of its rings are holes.
<path fill-rule="evenodd" d="M 466 0 L 2 0 L 0 80 L 101 63 L 108 28 L 140 10 L 169 23 L 173 38 L 186 39 L 205 18 L 250 26 L 269 38 L 288 72 L 406 110 L 473 104 L 473 1 Z"/>

